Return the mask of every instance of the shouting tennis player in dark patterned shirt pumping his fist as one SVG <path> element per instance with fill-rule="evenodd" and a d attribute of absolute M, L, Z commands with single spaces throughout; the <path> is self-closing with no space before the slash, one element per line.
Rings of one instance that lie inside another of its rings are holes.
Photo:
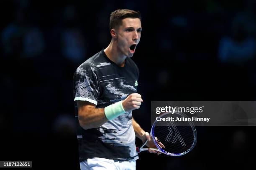
<path fill-rule="evenodd" d="M 143 102 L 136 93 L 139 70 L 131 60 L 141 30 L 139 12 L 115 10 L 110 15 L 110 44 L 82 63 L 74 74 L 81 170 L 135 170 L 135 136 L 156 148 L 132 116 L 132 110 Z"/>

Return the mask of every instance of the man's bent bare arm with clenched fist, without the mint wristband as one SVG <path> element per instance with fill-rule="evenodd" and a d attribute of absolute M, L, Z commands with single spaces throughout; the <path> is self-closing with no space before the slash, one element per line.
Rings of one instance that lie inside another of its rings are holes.
<path fill-rule="evenodd" d="M 125 111 L 131 111 L 140 108 L 141 102 L 143 102 L 141 95 L 133 93 L 122 101 L 122 106 Z M 96 108 L 95 104 L 81 100 L 77 100 L 77 107 L 79 124 L 85 130 L 98 128 L 108 122 L 105 108 Z M 110 109 L 110 112 L 112 110 L 115 110 L 115 108 Z"/>

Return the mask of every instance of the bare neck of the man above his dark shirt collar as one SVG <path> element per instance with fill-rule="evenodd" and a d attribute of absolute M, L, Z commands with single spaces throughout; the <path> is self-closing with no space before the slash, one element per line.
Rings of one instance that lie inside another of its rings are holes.
<path fill-rule="evenodd" d="M 126 56 L 121 54 L 121 52 L 118 50 L 116 42 L 113 40 L 111 40 L 108 47 L 104 49 L 104 52 L 111 61 L 115 62 L 115 64 L 119 65 L 120 67 L 125 65 Z"/>

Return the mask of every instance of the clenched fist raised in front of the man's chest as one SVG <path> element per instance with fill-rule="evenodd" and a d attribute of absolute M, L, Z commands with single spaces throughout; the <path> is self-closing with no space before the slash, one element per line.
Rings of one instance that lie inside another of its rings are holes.
<path fill-rule="evenodd" d="M 141 107 L 141 102 L 143 102 L 141 95 L 138 93 L 133 93 L 122 101 L 123 109 L 126 112 L 138 109 Z"/>

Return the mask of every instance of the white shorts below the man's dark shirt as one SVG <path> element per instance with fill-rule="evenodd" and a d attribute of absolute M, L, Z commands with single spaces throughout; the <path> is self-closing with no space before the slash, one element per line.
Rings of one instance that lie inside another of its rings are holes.
<path fill-rule="evenodd" d="M 136 161 L 90 158 L 80 163 L 81 170 L 136 170 Z"/>

